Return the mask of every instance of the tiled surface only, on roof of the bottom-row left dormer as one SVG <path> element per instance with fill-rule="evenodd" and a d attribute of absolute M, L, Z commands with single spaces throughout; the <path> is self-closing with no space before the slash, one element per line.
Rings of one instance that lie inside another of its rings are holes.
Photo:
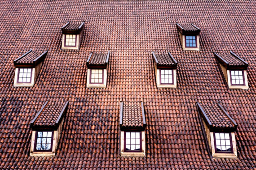
<path fill-rule="evenodd" d="M 34 124 L 36 126 L 54 126 L 64 106 L 65 102 L 53 101 L 47 103 Z"/>

